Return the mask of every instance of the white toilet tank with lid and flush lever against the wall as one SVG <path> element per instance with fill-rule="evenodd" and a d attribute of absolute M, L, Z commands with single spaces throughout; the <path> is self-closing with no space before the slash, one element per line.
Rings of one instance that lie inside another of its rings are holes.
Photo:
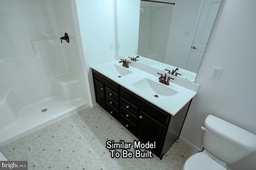
<path fill-rule="evenodd" d="M 204 121 L 202 144 L 221 160 L 233 164 L 256 150 L 256 135 L 213 115 Z"/>

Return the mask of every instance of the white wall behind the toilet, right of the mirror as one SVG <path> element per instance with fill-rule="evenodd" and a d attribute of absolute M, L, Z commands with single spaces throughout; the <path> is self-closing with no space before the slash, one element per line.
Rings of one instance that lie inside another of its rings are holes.
<path fill-rule="evenodd" d="M 188 112 L 181 138 L 202 148 L 201 126 L 215 115 L 256 134 L 256 1 L 223 0 L 196 77 L 200 89 Z M 223 68 L 219 79 L 212 67 Z M 256 152 L 228 164 L 232 170 L 255 170 Z"/>

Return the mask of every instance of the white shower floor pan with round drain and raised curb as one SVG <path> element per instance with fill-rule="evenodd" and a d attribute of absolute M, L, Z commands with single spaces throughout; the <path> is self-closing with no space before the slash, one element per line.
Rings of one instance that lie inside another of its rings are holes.
<path fill-rule="evenodd" d="M 16 122 L 0 129 L 0 147 L 88 107 L 86 103 L 82 98 L 73 101 L 49 98 L 23 107 Z"/>

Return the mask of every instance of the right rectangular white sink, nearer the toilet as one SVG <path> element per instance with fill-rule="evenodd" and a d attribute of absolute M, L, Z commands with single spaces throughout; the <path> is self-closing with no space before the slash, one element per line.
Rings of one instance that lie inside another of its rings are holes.
<path fill-rule="evenodd" d="M 155 82 L 150 79 L 142 79 L 132 84 L 134 87 L 155 97 L 169 97 L 178 93 L 178 91 L 167 87 L 160 82 Z"/>

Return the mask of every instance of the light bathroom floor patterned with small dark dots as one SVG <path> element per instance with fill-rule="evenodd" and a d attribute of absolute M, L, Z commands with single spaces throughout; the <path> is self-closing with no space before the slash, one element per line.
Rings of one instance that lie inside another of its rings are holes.
<path fill-rule="evenodd" d="M 177 141 L 162 160 L 154 154 L 111 158 L 107 140 L 133 142 L 136 137 L 101 107 L 88 107 L 0 150 L 8 160 L 27 160 L 28 170 L 183 170 L 186 159 L 196 153 Z"/>

